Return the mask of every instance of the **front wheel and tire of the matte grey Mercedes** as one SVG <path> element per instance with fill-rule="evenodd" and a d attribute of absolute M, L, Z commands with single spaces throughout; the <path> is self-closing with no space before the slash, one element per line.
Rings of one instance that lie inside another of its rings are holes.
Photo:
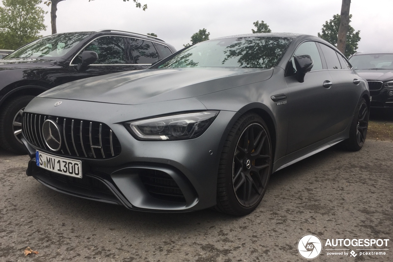
<path fill-rule="evenodd" d="M 250 214 L 266 192 L 271 171 L 272 142 L 266 123 L 259 115 L 246 113 L 231 128 L 222 149 L 215 209 L 235 216 Z"/>

